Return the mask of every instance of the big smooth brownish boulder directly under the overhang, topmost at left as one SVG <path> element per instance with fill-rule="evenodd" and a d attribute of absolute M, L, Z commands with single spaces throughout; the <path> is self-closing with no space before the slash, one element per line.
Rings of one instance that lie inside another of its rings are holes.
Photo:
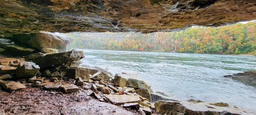
<path fill-rule="evenodd" d="M 31 47 L 35 47 L 38 50 L 42 48 L 54 48 L 61 50 L 62 52 L 67 51 L 67 47 L 71 42 L 71 38 L 56 35 L 51 32 L 38 32 L 31 34 L 15 34 L 13 35 L 14 40 L 23 42 Z"/>

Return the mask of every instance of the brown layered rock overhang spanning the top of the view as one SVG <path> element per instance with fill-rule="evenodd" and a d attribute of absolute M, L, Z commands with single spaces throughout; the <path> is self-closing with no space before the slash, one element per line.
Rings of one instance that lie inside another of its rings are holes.
<path fill-rule="evenodd" d="M 255 0 L 1 0 L 0 34 L 158 32 L 256 19 Z"/>

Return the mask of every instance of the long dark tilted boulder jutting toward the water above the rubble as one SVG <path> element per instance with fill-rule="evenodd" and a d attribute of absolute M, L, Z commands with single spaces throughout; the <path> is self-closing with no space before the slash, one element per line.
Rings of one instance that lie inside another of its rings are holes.
<path fill-rule="evenodd" d="M 69 52 L 60 52 L 39 56 L 33 60 L 41 68 L 50 67 L 52 65 L 60 65 L 64 63 L 71 63 L 84 58 L 83 51 L 72 50 Z"/>

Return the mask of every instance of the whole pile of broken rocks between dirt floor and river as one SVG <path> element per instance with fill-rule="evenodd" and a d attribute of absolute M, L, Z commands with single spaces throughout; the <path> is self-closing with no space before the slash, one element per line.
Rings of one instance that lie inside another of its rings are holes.
<path fill-rule="evenodd" d="M 138 78 L 137 74 L 116 74 L 77 67 L 77 61 L 84 58 L 82 51 L 72 50 L 52 54 L 37 52 L 24 58 L 0 59 L 0 86 L 7 91 L 38 87 L 64 93 L 92 90 L 91 97 L 138 110 L 151 115 L 154 105 L 151 88 Z M 129 79 L 127 79 L 129 77 Z"/>

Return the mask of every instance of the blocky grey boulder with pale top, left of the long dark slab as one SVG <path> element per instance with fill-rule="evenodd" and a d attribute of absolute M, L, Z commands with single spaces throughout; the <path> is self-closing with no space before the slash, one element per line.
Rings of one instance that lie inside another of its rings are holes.
<path fill-rule="evenodd" d="M 34 62 L 21 61 L 16 69 L 17 78 L 30 78 L 36 76 L 40 67 Z"/>

